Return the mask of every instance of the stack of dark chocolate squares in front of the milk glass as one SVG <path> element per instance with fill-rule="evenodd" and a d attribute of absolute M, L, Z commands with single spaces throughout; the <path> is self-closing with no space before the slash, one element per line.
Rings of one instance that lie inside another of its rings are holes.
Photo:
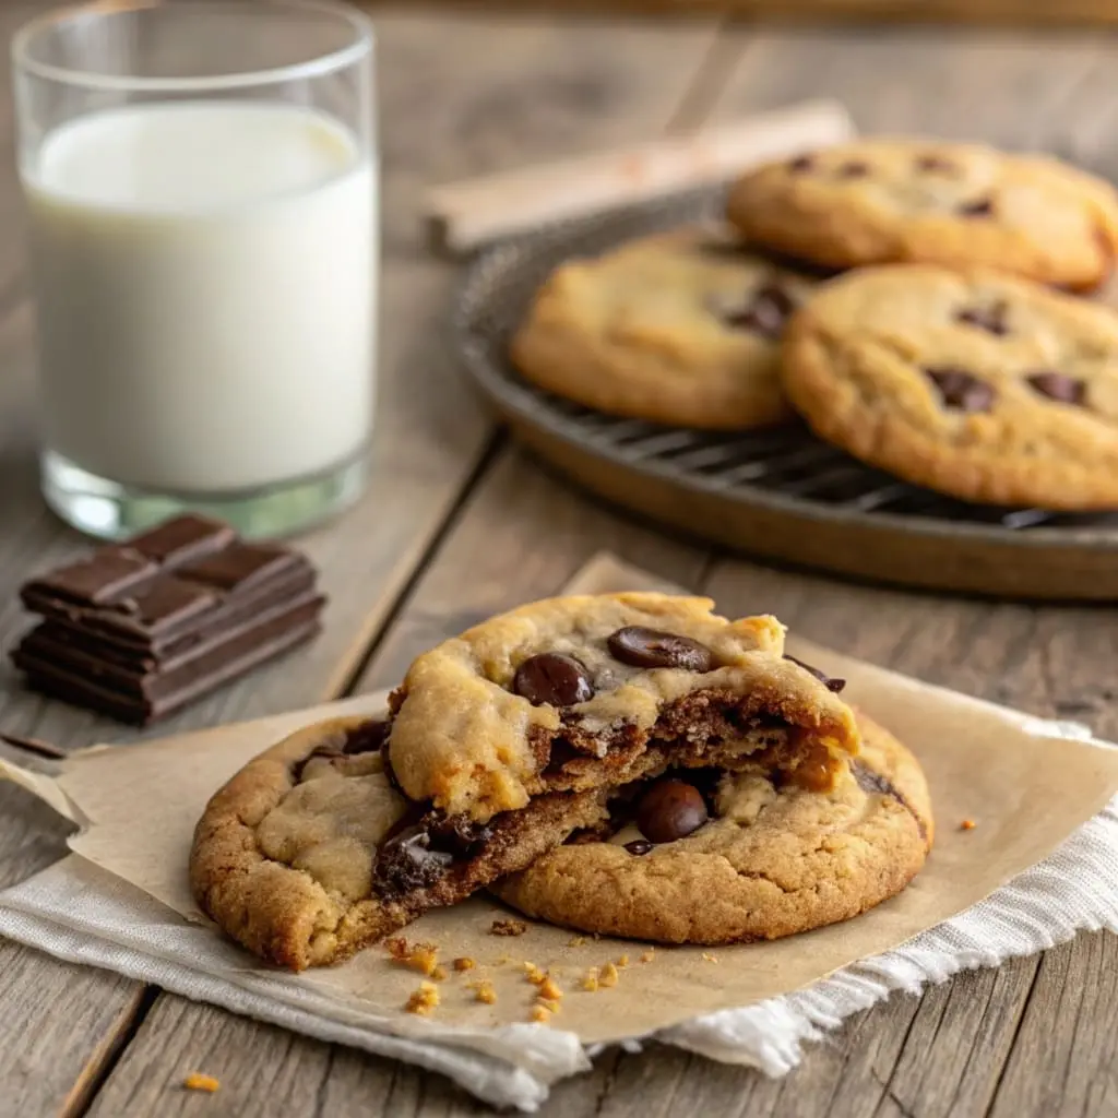
<path fill-rule="evenodd" d="M 12 660 L 39 691 L 145 726 L 312 637 L 303 556 L 180 517 L 23 586 L 42 622 Z"/>

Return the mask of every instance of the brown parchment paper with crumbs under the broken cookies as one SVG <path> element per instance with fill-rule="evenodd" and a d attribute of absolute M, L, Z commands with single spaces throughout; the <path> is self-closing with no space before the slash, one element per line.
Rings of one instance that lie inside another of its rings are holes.
<path fill-rule="evenodd" d="M 648 588 L 664 584 L 608 556 L 589 563 L 568 587 L 577 593 Z M 566 991 L 551 1027 L 577 1034 L 584 1044 L 642 1036 L 790 992 L 896 947 L 1046 856 L 1118 792 L 1118 749 L 1105 742 L 1039 737 L 1030 732 L 1034 720 L 1018 712 L 928 686 L 794 635 L 788 647 L 827 674 L 844 676 L 844 698 L 900 737 L 925 767 L 936 846 L 900 897 L 807 935 L 717 949 L 656 947 L 648 963 L 639 961 L 647 945 L 587 938 L 572 946 L 572 932 L 546 925 L 530 925 L 518 938 L 498 938 L 490 934 L 494 918 L 514 913 L 476 897 L 426 916 L 405 932 L 436 944 L 447 961 L 468 956 L 477 964 L 439 984 L 440 1004 L 429 1020 L 402 1012 L 421 976 L 390 961 L 379 947 L 343 966 L 299 976 L 230 948 L 221 956 L 228 960 L 222 977 L 236 982 L 238 975 L 268 975 L 275 996 L 313 988 L 338 1020 L 382 1018 L 404 1035 L 468 1035 L 466 1043 L 477 1048 L 489 1029 L 529 1020 L 537 989 L 523 973 L 528 960 L 550 970 Z M 205 922 L 190 897 L 186 862 L 208 797 L 292 729 L 328 714 L 373 712 L 382 702 L 382 694 L 364 695 L 146 745 L 97 747 L 68 759 L 54 781 L 38 777 L 29 784 L 26 774 L 16 778 L 79 824 L 69 841 L 74 851 L 186 919 Z M 975 821 L 974 830 L 960 828 L 965 818 Z M 615 987 L 597 993 L 580 988 L 588 967 L 623 955 L 629 963 Z M 475 1001 L 467 983 L 477 978 L 492 982 L 495 1004 Z"/>

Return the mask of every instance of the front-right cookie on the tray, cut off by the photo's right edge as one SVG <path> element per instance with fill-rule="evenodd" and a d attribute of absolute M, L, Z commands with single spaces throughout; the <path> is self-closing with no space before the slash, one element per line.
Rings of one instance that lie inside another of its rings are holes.
<path fill-rule="evenodd" d="M 785 390 L 823 438 L 968 501 L 1118 508 L 1118 315 L 999 273 L 894 265 L 790 323 Z"/>

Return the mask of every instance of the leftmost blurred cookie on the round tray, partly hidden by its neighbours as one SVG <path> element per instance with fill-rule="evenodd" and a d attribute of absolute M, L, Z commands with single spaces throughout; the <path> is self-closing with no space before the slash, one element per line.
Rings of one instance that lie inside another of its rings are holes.
<path fill-rule="evenodd" d="M 803 273 L 718 227 L 565 264 L 512 342 L 532 383 L 610 415 L 736 429 L 789 418 L 778 342 Z"/>

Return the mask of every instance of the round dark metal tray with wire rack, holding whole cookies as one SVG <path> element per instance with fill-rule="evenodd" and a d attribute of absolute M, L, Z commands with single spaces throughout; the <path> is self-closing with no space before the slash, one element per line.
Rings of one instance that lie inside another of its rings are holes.
<path fill-rule="evenodd" d="M 572 256 L 716 216 L 704 190 L 557 222 L 487 250 L 454 318 L 482 392 L 538 455 L 606 500 L 751 556 L 902 586 L 1048 600 L 1118 599 L 1118 513 L 969 504 L 855 461 L 794 425 L 740 434 L 593 411 L 528 385 L 509 339 Z"/>

